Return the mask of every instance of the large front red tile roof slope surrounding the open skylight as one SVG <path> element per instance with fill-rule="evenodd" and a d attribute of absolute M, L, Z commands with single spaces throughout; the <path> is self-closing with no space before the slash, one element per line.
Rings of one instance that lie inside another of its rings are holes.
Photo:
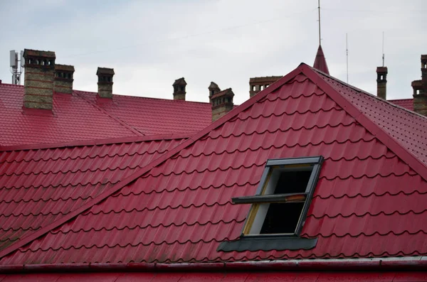
<path fill-rule="evenodd" d="M 151 169 L 139 170 L 136 180 L 115 185 L 110 197 L 98 197 L 96 205 L 30 244 L 16 244 L 19 249 L 0 263 L 425 255 L 427 168 L 414 157 L 418 152 L 408 152 L 399 136 L 356 107 L 361 101 L 375 113 L 401 111 L 307 65 L 297 67 Z M 412 115 L 414 123 L 423 122 Z M 231 197 L 255 194 L 268 158 L 318 155 L 325 162 L 302 229 L 302 237 L 318 238 L 314 249 L 216 251 L 223 240 L 241 235 L 249 206 L 233 205 Z"/>

